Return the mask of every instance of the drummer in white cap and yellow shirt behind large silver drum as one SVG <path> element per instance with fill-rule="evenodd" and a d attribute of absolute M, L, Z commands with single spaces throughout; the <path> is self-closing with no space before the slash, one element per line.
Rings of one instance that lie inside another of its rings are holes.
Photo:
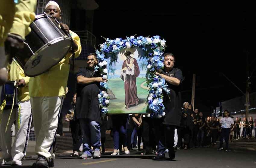
<path fill-rule="evenodd" d="M 61 9 L 55 1 L 49 1 L 45 12 L 61 21 Z M 73 38 L 75 57 L 81 53 L 80 38 L 69 30 L 66 24 L 60 24 L 61 29 Z M 59 49 L 59 48 L 56 48 Z M 47 72 L 30 78 L 29 95 L 33 113 L 33 122 L 36 133 L 36 167 L 53 167 L 52 144 L 55 140 L 58 127 L 58 118 L 67 87 L 67 79 L 72 53 L 67 55 Z M 53 55 L 54 56 L 54 55 Z"/>

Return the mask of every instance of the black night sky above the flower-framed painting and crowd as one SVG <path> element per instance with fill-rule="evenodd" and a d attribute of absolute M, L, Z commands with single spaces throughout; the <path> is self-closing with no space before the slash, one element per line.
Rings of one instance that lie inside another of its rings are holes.
<path fill-rule="evenodd" d="M 181 4 L 167 1 L 96 1 L 93 34 L 97 44 L 105 38 L 160 35 L 166 52 L 175 55 L 175 67 L 183 71 L 183 101 L 191 102 L 192 75 L 196 74 L 195 107 L 210 114 L 220 101 L 242 93 L 246 81 L 246 50 L 251 72 L 256 68 L 255 20 L 252 11 L 232 10 L 231 5 Z M 252 74 L 251 92 L 255 91 Z"/>

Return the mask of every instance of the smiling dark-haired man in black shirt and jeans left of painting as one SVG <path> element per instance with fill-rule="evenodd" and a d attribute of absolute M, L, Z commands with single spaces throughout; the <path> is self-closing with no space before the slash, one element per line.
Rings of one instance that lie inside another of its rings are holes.
<path fill-rule="evenodd" d="M 83 155 L 81 159 L 99 158 L 101 147 L 100 124 L 101 115 L 98 103 L 99 84 L 107 82 L 94 71 L 97 56 L 90 53 L 87 56 L 87 67 L 77 73 L 76 118 L 79 120 L 83 134 Z M 93 147 L 94 151 L 91 149 Z"/>

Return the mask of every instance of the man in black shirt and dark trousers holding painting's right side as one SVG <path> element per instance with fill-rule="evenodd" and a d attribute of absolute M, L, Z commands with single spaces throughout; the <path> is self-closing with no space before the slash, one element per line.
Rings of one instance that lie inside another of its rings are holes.
<path fill-rule="evenodd" d="M 181 93 L 180 84 L 183 80 L 182 71 L 178 68 L 173 68 L 174 55 L 172 53 L 164 54 L 164 70 L 162 72 L 156 72 L 156 75 L 165 79 L 168 88 L 170 89 L 170 95 L 164 92 L 164 112 L 165 116 L 161 119 L 162 125 L 158 127 L 156 132 L 163 133 L 160 136 L 158 144 L 158 155 L 154 157 L 154 160 L 165 160 L 164 151 L 166 148 L 169 150 L 170 159 L 175 158 L 174 153 L 174 129 L 180 126 L 181 119 Z"/>

